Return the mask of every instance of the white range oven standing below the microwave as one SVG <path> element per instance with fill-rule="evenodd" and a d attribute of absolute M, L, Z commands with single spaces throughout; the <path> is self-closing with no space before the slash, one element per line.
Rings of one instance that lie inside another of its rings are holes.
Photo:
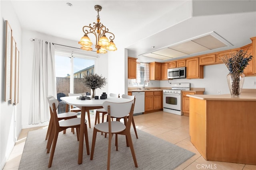
<path fill-rule="evenodd" d="M 183 115 L 182 90 L 190 90 L 190 83 L 172 83 L 171 89 L 163 90 L 163 111 Z"/>

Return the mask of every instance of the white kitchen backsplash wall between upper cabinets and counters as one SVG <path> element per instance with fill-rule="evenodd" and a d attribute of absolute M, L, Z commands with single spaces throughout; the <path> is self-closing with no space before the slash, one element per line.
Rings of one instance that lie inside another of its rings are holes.
<path fill-rule="evenodd" d="M 228 94 L 228 83 L 227 76 L 228 68 L 225 64 L 216 64 L 210 66 L 204 66 L 204 78 L 203 79 L 174 79 L 169 80 L 170 83 L 182 83 L 188 82 L 190 83 L 192 88 L 205 88 L 204 94 L 218 94 L 218 90 L 220 90 L 220 94 Z M 254 88 L 256 86 L 253 85 L 253 82 L 256 81 L 256 76 L 246 76 L 244 80 L 243 88 Z M 148 87 L 164 87 L 170 88 L 168 80 L 150 80 Z M 132 80 L 128 80 L 128 87 L 132 86 Z"/>

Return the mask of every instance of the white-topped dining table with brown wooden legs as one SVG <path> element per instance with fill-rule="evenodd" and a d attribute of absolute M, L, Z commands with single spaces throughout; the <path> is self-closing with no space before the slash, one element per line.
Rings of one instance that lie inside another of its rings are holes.
<path fill-rule="evenodd" d="M 76 106 L 81 109 L 81 125 L 80 125 L 80 133 L 79 133 L 79 149 L 78 149 L 78 164 L 82 164 L 83 160 L 83 150 L 84 150 L 84 126 L 85 126 L 85 113 L 91 109 L 100 109 L 103 108 L 102 104 L 104 102 L 129 102 L 131 100 L 124 98 L 113 98 L 108 97 L 106 99 L 91 99 L 91 100 L 78 100 L 76 99 L 78 96 L 66 96 L 61 97 L 60 99 L 66 103 L 66 112 L 68 112 L 69 105 Z M 90 114 L 90 113 L 88 113 Z M 87 150 L 87 154 L 90 152 Z"/>

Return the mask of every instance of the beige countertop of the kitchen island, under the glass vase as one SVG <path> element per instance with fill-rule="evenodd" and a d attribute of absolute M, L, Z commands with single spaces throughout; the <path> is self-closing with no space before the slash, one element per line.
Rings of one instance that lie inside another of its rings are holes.
<path fill-rule="evenodd" d="M 229 101 L 256 101 L 256 89 L 245 89 L 241 92 L 239 98 L 232 98 L 230 94 L 220 95 L 207 95 L 207 94 L 195 94 L 186 95 L 190 98 L 196 98 L 200 100 L 229 100 Z"/>

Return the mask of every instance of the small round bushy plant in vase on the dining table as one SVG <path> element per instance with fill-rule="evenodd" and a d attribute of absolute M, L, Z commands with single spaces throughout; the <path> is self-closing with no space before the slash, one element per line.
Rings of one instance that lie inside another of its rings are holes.
<path fill-rule="evenodd" d="M 106 82 L 106 78 L 102 77 L 102 75 L 98 75 L 98 74 L 92 74 L 89 73 L 88 75 L 84 75 L 84 78 L 81 80 L 85 86 L 87 86 L 88 88 L 92 89 L 92 98 L 94 98 L 94 92 L 96 88 L 102 88 L 104 87 L 107 82 Z"/>

